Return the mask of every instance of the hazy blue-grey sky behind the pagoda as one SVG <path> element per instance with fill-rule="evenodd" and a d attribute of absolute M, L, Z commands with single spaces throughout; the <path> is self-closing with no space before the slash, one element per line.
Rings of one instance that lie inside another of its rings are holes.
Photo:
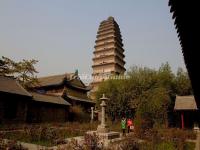
<path fill-rule="evenodd" d="M 101 21 L 113 16 L 125 68 L 185 69 L 168 0 L 0 0 L 0 57 L 36 59 L 40 76 L 92 73 Z"/>

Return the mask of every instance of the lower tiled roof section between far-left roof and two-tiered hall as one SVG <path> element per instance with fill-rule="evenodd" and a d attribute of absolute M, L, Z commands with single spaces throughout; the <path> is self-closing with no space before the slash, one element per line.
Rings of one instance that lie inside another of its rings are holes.
<path fill-rule="evenodd" d="M 59 105 L 71 105 L 60 96 L 39 94 L 36 92 L 30 92 L 30 93 L 32 94 L 34 101 L 53 103 L 53 104 L 59 104 Z"/>

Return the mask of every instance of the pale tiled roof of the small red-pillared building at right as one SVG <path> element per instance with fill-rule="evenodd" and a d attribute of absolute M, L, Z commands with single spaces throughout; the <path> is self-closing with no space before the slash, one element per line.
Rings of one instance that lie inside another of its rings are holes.
<path fill-rule="evenodd" d="M 174 110 L 197 110 L 194 96 L 176 96 Z"/>

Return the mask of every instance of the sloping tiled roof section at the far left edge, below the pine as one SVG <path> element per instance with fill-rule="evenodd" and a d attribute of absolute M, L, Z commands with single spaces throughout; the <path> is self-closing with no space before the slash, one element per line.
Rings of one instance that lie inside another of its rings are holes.
<path fill-rule="evenodd" d="M 11 77 L 0 76 L 0 91 L 12 94 L 18 94 L 31 97 L 29 94 L 15 79 Z"/>

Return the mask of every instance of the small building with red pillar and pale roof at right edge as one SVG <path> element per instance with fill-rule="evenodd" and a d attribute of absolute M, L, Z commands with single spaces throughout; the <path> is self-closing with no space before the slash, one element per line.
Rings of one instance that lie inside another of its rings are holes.
<path fill-rule="evenodd" d="M 199 126 L 200 112 L 194 96 L 176 96 L 174 110 L 177 113 L 177 124 L 183 128 Z"/>

